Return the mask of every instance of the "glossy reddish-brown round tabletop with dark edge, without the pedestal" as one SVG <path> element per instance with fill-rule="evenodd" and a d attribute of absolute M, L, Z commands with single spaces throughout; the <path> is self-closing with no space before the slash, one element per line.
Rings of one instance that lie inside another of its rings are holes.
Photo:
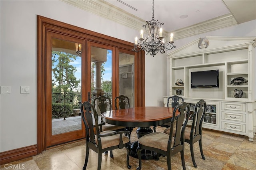
<path fill-rule="evenodd" d="M 105 123 L 112 125 L 150 127 L 170 122 L 173 109 L 172 107 L 133 107 L 106 111 L 101 116 Z"/>

